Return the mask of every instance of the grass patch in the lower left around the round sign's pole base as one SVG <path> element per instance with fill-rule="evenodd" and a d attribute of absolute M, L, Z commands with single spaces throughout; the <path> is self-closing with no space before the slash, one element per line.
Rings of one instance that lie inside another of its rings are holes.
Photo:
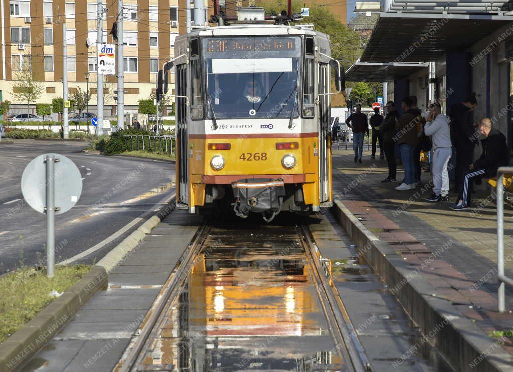
<path fill-rule="evenodd" d="M 91 265 L 55 266 L 54 277 L 46 270 L 20 268 L 0 278 L 0 343 L 51 303 L 52 291 L 63 293 L 90 270 Z"/>

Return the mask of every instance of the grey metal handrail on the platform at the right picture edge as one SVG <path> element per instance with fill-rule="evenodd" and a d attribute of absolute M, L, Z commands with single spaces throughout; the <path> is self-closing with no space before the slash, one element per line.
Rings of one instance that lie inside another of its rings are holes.
<path fill-rule="evenodd" d="M 497 279 L 499 281 L 499 313 L 506 311 L 505 284 L 513 286 L 513 279 L 504 274 L 504 175 L 513 174 L 513 167 L 497 170 Z"/>

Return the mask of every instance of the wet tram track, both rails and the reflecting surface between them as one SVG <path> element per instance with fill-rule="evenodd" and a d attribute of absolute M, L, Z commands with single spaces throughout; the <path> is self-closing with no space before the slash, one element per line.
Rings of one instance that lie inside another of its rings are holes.
<path fill-rule="evenodd" d="M 201 226 L 118 371 L 364 371 L 307 224 Z"/>

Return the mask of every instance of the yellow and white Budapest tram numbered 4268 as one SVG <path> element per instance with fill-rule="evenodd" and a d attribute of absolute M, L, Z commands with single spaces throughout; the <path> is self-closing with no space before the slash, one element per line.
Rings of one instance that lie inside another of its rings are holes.
<path fill-rule="evenodd" d="M 340 92 L 343 69 L 328 35 L 246 10 L 258 19 L 175 40 L 179 207 L 318 211 L 332 202 L 330 76 Z"/>

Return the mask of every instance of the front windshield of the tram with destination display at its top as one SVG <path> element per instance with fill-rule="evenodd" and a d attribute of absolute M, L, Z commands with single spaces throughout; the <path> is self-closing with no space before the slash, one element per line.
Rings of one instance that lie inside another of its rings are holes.
<path fill-rule="evenodd" d="M 207 37 L 203 50 L 209 118 L 298 115 L 298 36 Z"/>

